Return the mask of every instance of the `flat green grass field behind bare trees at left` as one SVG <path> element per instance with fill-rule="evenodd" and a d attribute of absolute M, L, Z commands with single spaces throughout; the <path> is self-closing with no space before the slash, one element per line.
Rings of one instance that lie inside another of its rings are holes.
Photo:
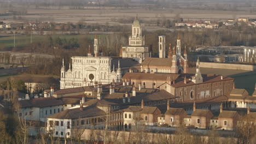
<path fill-rule="evenodd" d="M 94 35 L 52 35 L 53 39 L 60 37 L 61 39 L 79 39 L 83 37 L 89 37 L 90 39 L 94 38 Z M 43 40 L 46 35 L 33 35 L 32 41 L 39 41 Z M 102 35 L 100 35 L 102 37 Z M 4 44 L 4 47 L 13 47 L 14 46 L 14 36 L 8 35 L 8 36 L 0 36 L 0 45 Z M 30 35 L 16 35 L 15 36 L 15 45 L 16 47 L 24 47 L 26 45 L 30 44 Z"/>

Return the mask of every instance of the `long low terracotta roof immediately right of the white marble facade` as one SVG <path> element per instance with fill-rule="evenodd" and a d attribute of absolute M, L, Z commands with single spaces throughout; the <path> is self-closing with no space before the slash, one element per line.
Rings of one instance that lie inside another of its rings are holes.
<path fill-rule="evenodd" d="M 150 73 L 126 73 L 122 79 L 131 80 L 154 80 L 154 81 L 166 81 L 167 77 L 171 76 L 177 79 L 178 74 L 150 74 Z"/>

